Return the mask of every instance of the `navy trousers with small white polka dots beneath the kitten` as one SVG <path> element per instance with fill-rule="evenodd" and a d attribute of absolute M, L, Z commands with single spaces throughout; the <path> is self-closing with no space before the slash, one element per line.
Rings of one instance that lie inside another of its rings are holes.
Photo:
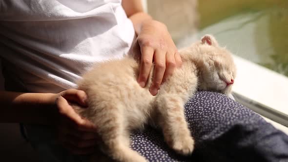
<path fill-rule="evenodd" d="M 192 156 L 177 155 L 152 128 L 131 135 L 131 147 L 150 162 L 288 162 L 288 136 L 225 95 L 196 93 L 185 116 L 196 142 Z"/>

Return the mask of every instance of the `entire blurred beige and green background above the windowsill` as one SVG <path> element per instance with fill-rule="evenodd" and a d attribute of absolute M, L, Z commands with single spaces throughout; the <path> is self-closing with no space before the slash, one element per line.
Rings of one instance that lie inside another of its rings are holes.
<path fill-rule="evenodd" d="M 288 0 L 147 0 L 147 8 L 179 48 L 213 34 L 235 55 L 288 76 Z"/>

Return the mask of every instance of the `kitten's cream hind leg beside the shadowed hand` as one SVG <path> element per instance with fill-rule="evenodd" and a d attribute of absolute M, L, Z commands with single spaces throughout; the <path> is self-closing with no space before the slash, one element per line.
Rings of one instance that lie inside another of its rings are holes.
<path fill-rule="evenodd" d="M 122 115 L 123 107 L 118 108 L 107 105 L 105 109 L 111 111 L 102 116 L 98 123 L 98 132 L 103 141 L 103 153 L 116 162 L 147 162 L 143 156 L 129 147 L 129 133 L 126 130 L 125 116 Z M 112 110 L 113 109 L 113 110 Z"/>

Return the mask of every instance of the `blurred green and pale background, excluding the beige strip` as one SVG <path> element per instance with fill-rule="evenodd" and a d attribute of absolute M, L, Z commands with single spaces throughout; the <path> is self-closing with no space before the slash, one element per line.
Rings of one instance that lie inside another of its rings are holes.
<path fill-rule="evenodd" d="M 200 33 L 288 76 L 288 0 L 199 0 Z"/>

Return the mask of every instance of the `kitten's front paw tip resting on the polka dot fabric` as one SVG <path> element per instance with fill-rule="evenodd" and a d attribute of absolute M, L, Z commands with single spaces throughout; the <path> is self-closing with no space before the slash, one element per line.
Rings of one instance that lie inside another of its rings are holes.
<path fill-rule="evenodd" d="M 194 140 L 190 136 L 181 138 L 173 143 L 172 148 L 179 154 L 191 155 L 194 149 Z"/>

